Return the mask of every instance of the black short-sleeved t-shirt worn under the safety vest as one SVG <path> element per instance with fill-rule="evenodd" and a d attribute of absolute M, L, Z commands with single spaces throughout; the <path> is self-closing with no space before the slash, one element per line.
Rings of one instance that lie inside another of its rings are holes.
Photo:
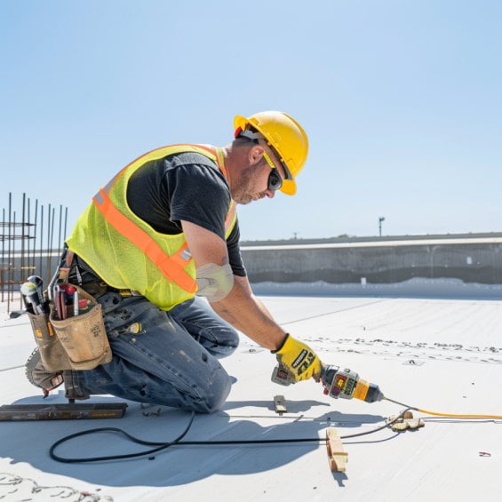
<path fill-rule="evenodd" d="M 227 180 L 215 163 L 196 153 L 168 155 L 142 165 L 129 180 L 127 203 L 131 211 L 161 234 L 182 232 L 184 219 L 225 240 L 225 219 L 230 204 Z M 235 221 L 227 239 L 230 267 L 246 275 Z"/>

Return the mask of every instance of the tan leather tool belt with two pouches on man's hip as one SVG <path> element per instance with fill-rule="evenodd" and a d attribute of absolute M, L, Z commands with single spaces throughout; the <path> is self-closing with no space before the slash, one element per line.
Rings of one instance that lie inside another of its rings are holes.
<path fill-rule="evenodd" d="M 49 285 L 52 300 L 44 314 L 28 312 L 48 371 L 93 370 L 112 360 L 101 305 L 87 288 L 68 282 L 73 259 L 73 252 L 67 250 Z"/>

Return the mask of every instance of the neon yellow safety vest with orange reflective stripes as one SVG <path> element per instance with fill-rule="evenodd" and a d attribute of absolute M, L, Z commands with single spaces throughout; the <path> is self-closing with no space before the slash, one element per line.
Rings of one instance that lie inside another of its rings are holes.
<path fill-rule="evenodd" d="M 70 251 L 82 257 L 103 281 L 117 289 L 139 291 L 163 310 L 170 310 L 195 295 L 194 259 L 184 234 L 156 232 L 131 211 L 127 185 L 132 174 L 145 163 L 187 152 L 209 158 L 227 178 L 220 148 L 203 145 L 157 148 L 124 167 L 100 189 L 68 238 Z M 225 221 L 226 238 L 236 218 L 235 202 L 231 201 Z"/>

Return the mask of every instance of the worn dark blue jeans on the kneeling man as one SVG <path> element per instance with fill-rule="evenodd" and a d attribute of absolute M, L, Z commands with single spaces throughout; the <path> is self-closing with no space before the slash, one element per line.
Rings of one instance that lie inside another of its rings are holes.
<path fill-rule="evenodd" d="M 235 351 L 239 337 L 205 300 L 195 297 L 169 312 L 113 292 L 98 301 L 113 359 L 72 371 L 77 390 L 205 413 L 222 406 L 230 378 L 218 359 Z"/>

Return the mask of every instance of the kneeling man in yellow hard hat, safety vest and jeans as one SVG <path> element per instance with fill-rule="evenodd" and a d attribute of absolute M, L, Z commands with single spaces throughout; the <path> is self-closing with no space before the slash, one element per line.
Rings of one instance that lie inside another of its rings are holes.
<path fill-rule="evenodd" d="M 316 376 L 315 352 L 287 334 L 253 296 L 239 251 L 235 203 L 296 193 L 307 160 L 302 127 L 282 112 L 236 116 L 227 147 L 175 145 L 130 163 L 76 222 L 69 282 L 100 302 L 111 362 L 86 371 L 44 371 L 47 391 L 113 394 L 186 410 L 219 409 L 231 379 L 219 358 L 237 331 L 266 347 L 297 380 Z"/>

